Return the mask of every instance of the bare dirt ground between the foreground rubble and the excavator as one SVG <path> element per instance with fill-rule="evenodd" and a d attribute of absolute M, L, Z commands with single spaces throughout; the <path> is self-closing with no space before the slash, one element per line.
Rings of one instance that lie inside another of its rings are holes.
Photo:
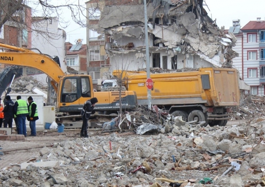
<path fill-rule="evenodd" d="M 247 120 L 234 120 L 228 121 L 226 126 L 244 124 Z M 104 136 L 110 133 L 97 134 L 101 129 L 89 129 L 89 136 Z M 73 140 L 79 138 L 80 129 L 65 129 L 63 133 L 58 133 L 57 130 L 39 130 L 36 137 L 26 137 L 24 141 L 1 141 L 0 150 L 4 152 L 0 156 L 0 169 L 8 166 L 9 164 L 22 163 L 34 157 L 39 156 L 39 150 L 42 147 L 52 146 L 53 143 L 60 143 L 64 140 Z M 137 135 L 133 132 L 124 132 L 118 134 L 124 136 L 149 136 Z"/>

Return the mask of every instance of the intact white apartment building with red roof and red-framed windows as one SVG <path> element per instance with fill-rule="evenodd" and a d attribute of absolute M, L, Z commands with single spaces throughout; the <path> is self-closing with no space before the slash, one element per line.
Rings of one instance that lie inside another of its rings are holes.
<path fill-rule="evenodd" d="M 233 48 L 239 56 L 233 59 L 233 67 L 240 72 L 242 80 L 250 86 L 250 94 L 265 95 L 265 21 L 249 21 L 234 34 L 237 38 Z"/>

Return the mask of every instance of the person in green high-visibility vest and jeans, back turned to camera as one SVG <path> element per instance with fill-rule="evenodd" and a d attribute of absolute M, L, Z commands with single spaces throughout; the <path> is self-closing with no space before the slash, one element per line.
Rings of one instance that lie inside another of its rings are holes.
<path fill-rule="evenodd" d="M 28 115 L 28 104 L 21 96 L 17 96 L 17 101 L 14 105 L 14 114 L 17 116 L 17 123 L 19 127 L 19 134 L 27 136 L 26 116 Z"/>

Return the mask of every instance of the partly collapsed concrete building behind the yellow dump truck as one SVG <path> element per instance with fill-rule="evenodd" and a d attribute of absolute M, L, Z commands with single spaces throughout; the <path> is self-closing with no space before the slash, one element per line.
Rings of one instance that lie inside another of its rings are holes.
<path fill-rule="evenodd" d="M 94 17 L 98 17 L 98 21 L 89 26 L 97 26 L 98 39 L 105 40 L 104 48 L 99 46 L 98 49 L 108 59 L 110 71 L 145 68 L 143 2 L 100 3 L 87 2 L 90 10 L 94 8 L 92 13 L 97 15 Z M 237 55 L 232 50 L 236 38 L 233 33 L 224 33 L 217 27 L 202 3 L 202 0 L 147 2 L 150 67 L 231 67 L 230 62 Z M 88 53 L 95 47 L 90 46 L 88 44 Z M 88 59 L 88 63 L 91 62 Z"/>

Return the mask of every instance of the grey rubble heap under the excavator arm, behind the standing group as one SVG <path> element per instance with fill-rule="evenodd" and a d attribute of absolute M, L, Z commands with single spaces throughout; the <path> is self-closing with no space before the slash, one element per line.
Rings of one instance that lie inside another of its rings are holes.
<path fill-rule="evenodd" d="M 35 87 L 42 91 L 47 91 L 47 86 L 37 81 L 34 77 L 19 77 L 12 83 L 10 94 L 34 94 L 32 90 Z"/>

